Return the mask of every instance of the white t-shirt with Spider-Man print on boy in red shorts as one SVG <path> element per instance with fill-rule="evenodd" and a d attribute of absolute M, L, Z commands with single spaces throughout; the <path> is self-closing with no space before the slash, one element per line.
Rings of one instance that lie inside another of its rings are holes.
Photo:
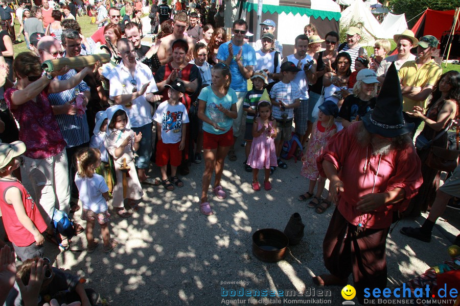
<path fill-rule="evenodd" d="M 162 125 L 163 143 L 178 143 L 182 139 L 182 124 L 189 123 L 189 116 L 182 103 L 170 105 L 164 101 L 156 109 L 153 120 Z"/>

